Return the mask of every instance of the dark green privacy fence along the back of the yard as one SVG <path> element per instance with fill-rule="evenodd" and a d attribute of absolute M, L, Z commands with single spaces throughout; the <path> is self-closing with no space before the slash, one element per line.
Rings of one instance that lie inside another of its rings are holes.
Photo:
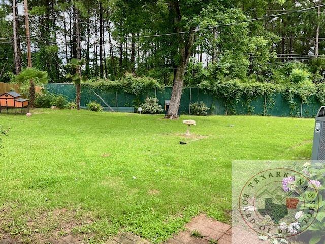
<path fill-rule="evenodd" d="M 69 100 L 73 101 L 76 97 L 76 90 L 74 84 L 67 83 L 48 83 L 45 86 L 50 93 L 62 94 L 67 96 Z M 170 100 L 172 94 L 172 87 L 165 87 L 164 90 L 153 89 L 147 90 L 140 96 L 128 94 L 121 91 L 103 91 L 99 89 L 92 90 L 86 85 L 81 87 L 81 106 L 86 106 L 91 101 L 105 103 L 95 94 L 97 93 L 108 105 L 111 107 L 132 107 L 139 102 L 143 102 L 146 97 L 156 97 L 159 103 L 164 107 L 165 100 Z M 199 88 L 185 87 L 180 102 L 180 113 L 190 113 L 190 103 L 204 102 L 210 107 L 214 114 L 226 115 L 235 110 L 238 115 L 252 114 L 252 115 L 270 115 L 270 116 L 285 116 L 285 117 L 315 117 L 321 104 L 314 97 L 309 97 L 308 103 L 302 103 L 300 98 L 295 98 L 296 107 L 291 109 L 285 96 L 281 93 L 276 93 L 271 98 L 257 97 L 250 102 L 245 101 L 245 98 L 236 104 L 234 109 L 227 108 L 223 99 L 215 98 L 213 95 L 205 93 Z"/>

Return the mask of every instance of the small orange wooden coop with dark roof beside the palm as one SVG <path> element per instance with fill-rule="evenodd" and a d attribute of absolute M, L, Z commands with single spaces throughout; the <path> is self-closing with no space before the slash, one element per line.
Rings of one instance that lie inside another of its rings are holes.
<path fill-rule="evenodd" d="M 4 94 L 1 94 L 0 112 L 1 109 L 7 109 L 7 113 L 8 113 L 9 108 L 13 108 L 15 112 L 16 112 L 16 108 L 20 108 L 21 112 L 23 113 L 23 108 L 27 108 L 27 110 L 29 110 L 28 99 L 21 98 L 21 95 L 16 92 L 6 92 Z"/>

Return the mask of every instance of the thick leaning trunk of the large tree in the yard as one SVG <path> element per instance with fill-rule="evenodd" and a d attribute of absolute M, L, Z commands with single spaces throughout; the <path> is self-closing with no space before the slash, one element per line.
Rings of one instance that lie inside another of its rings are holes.
<path fill-rule="evenodd" d="M 168 114 L 165 118 L 177 119 L 178 108 L 181 101 L 182 90 L 184 85 L 184 74 L 187 68 L 189 58 L 191 56 L 191 49 L 194 43 L 194 33 L 188 34 L 187 43 L 180 49 L 181 63 L 177 66 L 176 74 L 174 77 L 174 84 L 172 90 L 171 101 L 168 109 Z"/>

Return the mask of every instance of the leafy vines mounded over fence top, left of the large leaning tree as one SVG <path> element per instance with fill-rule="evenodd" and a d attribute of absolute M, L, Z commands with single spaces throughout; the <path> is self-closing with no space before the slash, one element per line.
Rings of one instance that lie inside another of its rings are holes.
<path fill-rule="evenodd" d="M 126 93 L 139 95 L 148 89 L 163 89 L 157 80 L 149 77 L 134 77 L 133 74 L 127 73 L 125 77 L 115 81 L 111 80 L 88 80 L 87 84 L 92 89 L 101 90 L 123 90 Z"/>

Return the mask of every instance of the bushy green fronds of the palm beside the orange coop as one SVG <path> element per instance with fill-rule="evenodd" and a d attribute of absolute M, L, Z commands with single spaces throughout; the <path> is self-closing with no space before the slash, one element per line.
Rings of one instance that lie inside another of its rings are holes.
<path fill-rule="evenodd" d="M 48 81 L 47 72 L 35 68 L 24 68 L 19 75 L 16 75 L 14 84 L 19 85 L 20 93 L 24 96 L 29 94 L 29 81 L 34 81 L 36 86 L 41 86 Z"/>

